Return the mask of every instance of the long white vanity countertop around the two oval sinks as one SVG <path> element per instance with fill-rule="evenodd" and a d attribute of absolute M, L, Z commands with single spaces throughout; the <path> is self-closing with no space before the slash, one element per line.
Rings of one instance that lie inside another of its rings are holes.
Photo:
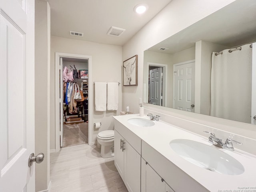
<path fill-rule="evenodd" d="M 256 156 L 237 149 L 228 151 L 217 148 L 212 146 L 205 137 L 161 121 L 154 121 L 155 125 L 151 127 L 135 126 L 127 122 L 131 118 L 149 119 L 147 116 L 140 117 L 139 114 L 132 114 L 114 116 L 114 118 L 210 192 L 239 191 L 239 189 L 244 192 L 256 192 Z M 194 140 L 217 148 L 238 160 L 244 166 L 244 173 L 240 175 L 225 175 L 200 168 L 184 160 L 172 150 L 170 141 L 174 139 Z"/>

